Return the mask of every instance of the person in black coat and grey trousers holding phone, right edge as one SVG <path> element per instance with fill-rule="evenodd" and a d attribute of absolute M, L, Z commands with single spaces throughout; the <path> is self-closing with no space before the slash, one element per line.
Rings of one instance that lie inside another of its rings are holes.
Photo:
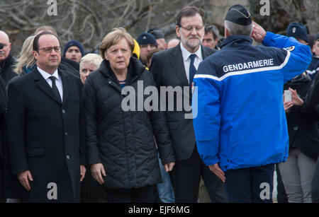
<path fill-rule="evenodd" d="M 289 131 L 289 158 L 279 163 L 289 203 L 311 203 L 311 180 L 319 153 L 319 110 L 303 101 L 311 85 L 306 73 L 287 82 L 292 99 L 284 102 Z"/>

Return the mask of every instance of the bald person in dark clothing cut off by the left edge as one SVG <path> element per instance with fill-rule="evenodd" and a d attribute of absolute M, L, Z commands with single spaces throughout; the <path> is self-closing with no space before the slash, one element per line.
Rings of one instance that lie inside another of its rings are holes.
<path fill-rule="evenodd" d="M 11 55 L 11 43 L 9 36 L 0 30 L 0 76 L 4 79 L 4 85 L 8 83 L 17 74 L 13 71 L 15 59 Z"/>

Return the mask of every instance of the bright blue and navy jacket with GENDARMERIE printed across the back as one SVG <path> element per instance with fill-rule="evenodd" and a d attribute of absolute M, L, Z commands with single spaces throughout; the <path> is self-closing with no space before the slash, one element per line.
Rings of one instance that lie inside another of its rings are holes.
<path fill-rule="evenodd" d="M 206 165 L 219 163 L 226 171 L 288 157 L 283 88 L 308 68 L 310 47 L 269 32 L 262 43 L 267 47 L 254 47 L 243 35 L 227 37 L 198 67 L 192 107 Z"/>

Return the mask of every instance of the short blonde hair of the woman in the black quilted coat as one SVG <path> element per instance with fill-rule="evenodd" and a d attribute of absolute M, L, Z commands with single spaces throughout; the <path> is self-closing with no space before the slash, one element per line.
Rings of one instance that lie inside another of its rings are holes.
<path fill-rule="evenodd" d="M 108 33 L 108 35 L 106 35 L 101 42 L 101 57 L 105 59 L 104 54 L 106 50 L 111 46 L 116 45 L 122 38 L 125 38 L 125 40 L 128 42 L 128 46 L 130 47 L 130 51 L 133 52 L 135 46 L 133 37 L 126 32 L 125 28 L 113 28 L 112 32 Z"/>

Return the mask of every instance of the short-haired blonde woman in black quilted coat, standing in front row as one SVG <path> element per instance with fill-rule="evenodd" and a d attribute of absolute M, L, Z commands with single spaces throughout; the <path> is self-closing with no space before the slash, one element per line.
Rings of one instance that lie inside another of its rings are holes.
<path fill-rule="evenodd" d="M 143 106 L 147 98 L 138 89 L 144 93 L 155 81 L 132 57 L 133 49 L 133 37 L 123 28 L 108 33 L 101 43 L 101 66 L 84 84 L 86 154 L 92 176 L 107 189 L 108 202 L 152 203 L 161 181 L 157 153 L 167 171 L 174 167 L 175 156 L 164 113 Z M 126 107 L 138 98 L 138 110 Z"/>

